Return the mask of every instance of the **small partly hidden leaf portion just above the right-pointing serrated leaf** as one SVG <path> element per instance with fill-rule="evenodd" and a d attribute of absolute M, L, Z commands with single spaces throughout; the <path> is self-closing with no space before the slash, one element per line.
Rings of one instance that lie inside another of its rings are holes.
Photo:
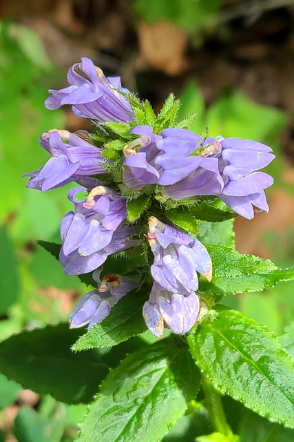
<path fill-rule="evenodd" d="M 217 246 L 235 246 L 234 220 L 224 222 L 202 222 L 199 228 L 198 240 Z"/>

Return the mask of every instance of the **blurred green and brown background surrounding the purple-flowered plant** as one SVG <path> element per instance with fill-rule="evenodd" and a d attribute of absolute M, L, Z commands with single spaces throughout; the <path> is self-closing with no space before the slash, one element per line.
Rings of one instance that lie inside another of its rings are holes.
<path fill-rule="evenodd" d="M 43 131 L 91 130 L 69 108 L 52 112 L 43 106 L 48 88 L 65 86 L 67 68 L 81 56 L 92 58 L 107 75 L 121 75 L 124 85 L 156 110 L 175 92 L 182 99 L 181 117 L 198 113 L 192 126 L 198 133 L 208 127 L 211 135 L 272 146 L 271 211 L 253 221 L 238 218 L 236 246 L 281 267 L 293 266 L 294 31 L 289 3 L 0 1 L 0 340 L 67 321 L 87 291 L 36 244 L 39 238 L 59 242 L 59 222 L 71 209 L 68 189 L 42 194 L 25 189 L 27 179 L 21 177 L 48 160 L 38 144 Z M 293 291 L 294 282 L 287 282 L 223 303 L 282 334 L 294 318 Z M 85 411 L 85 405 L 64 405 L 21 390 L 0 374 L 0 442 L 72 441 Z M 200 416 L 203 410 L 195 413 Z M 167 439 L 193 441 L 201 434 L 193 419 L 183 418 Z M 257 425 L 268 425 L 258 419 Z"/>

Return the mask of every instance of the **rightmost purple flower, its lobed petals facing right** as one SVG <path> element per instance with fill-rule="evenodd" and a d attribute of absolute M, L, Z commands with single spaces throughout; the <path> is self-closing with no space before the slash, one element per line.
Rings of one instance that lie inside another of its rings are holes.
<path fill-rule="evenodd" d="M 188 141 L 189 137 L 187 131 Z M 173 200 L 218 195 L 233 211 L 248 219 L 254 216 L 253 206 L 269 211 L 264 189 L 273 184 L 273 178 L 258 170 L 275 157 L 271 148 L 250 140 L 222 137 L 208 138 L 202 148 L 198 168 L 179 182 L 164 186 L 162 195 Z"/>

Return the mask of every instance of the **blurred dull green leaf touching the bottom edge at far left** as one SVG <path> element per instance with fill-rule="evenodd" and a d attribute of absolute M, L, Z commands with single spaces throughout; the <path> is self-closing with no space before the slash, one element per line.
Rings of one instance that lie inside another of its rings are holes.
<path fill-rule="evenodd" d="M 61 440 L 63 427 L 63 416 L 45 419 L 24 405 L 14 421 L 14 434 L 19 442 L 56 442 Z"/>

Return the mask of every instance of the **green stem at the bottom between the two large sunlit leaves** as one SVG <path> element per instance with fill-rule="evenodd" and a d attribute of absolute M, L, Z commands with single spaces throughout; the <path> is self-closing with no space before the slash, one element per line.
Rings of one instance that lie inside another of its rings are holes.
<path fill-rule="evenodd" d="M 202 376 L 202 388 L 205 395 L 205 405 L 213 430 L 224 434 L 224 436 L 230 436 L 232 431 L 224 414 L 220 393 L 213 388 L 213 385 L 211 385 L 205 376 Z"/>

